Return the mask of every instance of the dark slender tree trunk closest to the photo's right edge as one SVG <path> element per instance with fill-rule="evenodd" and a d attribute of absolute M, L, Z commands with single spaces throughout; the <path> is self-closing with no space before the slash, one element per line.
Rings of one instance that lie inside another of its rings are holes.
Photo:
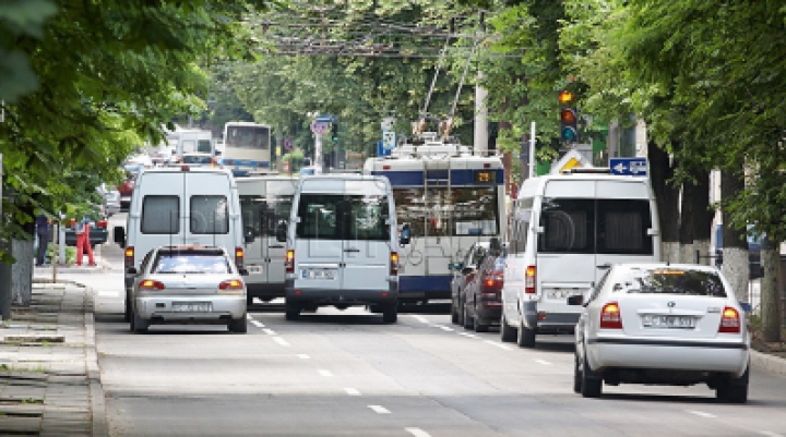
<path fill-rule="evenodd" d="M 781 341 L 781 293 L 777 288 L 781 254 L 769 238 L 762 239 L 761 263 L 764 275 L 761 279 L 762 338 L 767 342 Z"/>

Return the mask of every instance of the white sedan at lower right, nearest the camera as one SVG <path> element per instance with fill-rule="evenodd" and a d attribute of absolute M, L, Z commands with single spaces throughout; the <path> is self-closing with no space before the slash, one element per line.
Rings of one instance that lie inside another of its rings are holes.
<path fill-rule="evenodd" d="M 575 329 L 573 389 L 604 383 L 706 384 L 718 399 L 748 400 L 750 337 L 742 307 L 715 267 L 619 264 L 585 295 Z"/>

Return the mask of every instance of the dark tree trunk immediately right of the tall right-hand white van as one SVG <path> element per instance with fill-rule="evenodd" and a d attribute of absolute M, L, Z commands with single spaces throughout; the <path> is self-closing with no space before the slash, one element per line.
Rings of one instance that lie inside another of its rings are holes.
<path fill-rule="evenodd" d="M 679 192 L 668 182 L 674 177 L 671 157 L 666 150 L 647 142 L 647 158 L 650 160 L 650 183 L 655 194 L 655 203 L 660 218 L 660 254 L 663 260 L 678 260 L 679 248 Z"/>

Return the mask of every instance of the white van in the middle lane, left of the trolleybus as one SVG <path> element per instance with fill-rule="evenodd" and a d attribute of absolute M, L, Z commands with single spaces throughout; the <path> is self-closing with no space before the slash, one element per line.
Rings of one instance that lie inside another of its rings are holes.
<path fill-rule="evenodd" d="M 385 323 L 397 319 L 398 244 L 388 178 L 360 174 L 303 177 L 293 202 L 287 242 L 286 318 L 302 309 L 369 305 Z"/>

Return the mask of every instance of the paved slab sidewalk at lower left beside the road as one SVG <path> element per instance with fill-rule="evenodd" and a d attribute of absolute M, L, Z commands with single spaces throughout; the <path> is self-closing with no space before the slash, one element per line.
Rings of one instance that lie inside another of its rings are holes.
<path fill-rule="evenodd" d="M 0 435 L 108 436 L 92 292 L 40 274 L 0 326 Z"/>

